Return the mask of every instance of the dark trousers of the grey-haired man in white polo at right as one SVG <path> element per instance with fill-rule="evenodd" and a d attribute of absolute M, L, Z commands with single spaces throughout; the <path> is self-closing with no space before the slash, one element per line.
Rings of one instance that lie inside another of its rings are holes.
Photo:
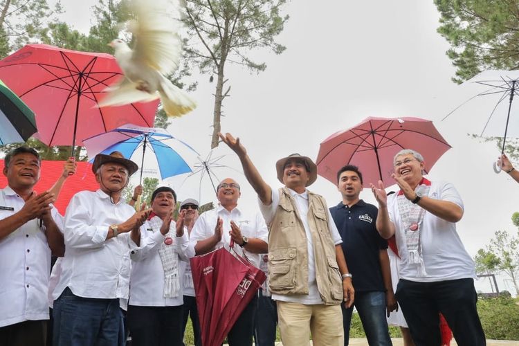
<path fill-rule="evenodd" d="M 483 346 L 486 340 L 477 316 L 474 280 L 439 282 L 399 280 L 397 300 L 417 346 L 439 346 L 439 313 L 459 346 Z"/>

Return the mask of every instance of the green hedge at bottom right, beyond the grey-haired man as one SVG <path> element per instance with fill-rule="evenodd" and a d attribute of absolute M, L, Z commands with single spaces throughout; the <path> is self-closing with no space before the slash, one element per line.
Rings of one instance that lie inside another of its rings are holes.
<path fill-rule="evenodd" d="M 477 313 L 487 339 L 519 340 L 519 305 L 505 295 L 479 299 Z"/>

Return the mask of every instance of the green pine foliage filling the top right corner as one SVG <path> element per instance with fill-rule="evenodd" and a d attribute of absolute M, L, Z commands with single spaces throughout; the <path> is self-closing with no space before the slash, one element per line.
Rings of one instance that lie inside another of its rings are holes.
<path fill-rule="evenodd" d="M 486 69 L 519 68 L 518 1 L 435 0 L 438 33 L 450 44 L 447 55 L 461 83 Z"/>

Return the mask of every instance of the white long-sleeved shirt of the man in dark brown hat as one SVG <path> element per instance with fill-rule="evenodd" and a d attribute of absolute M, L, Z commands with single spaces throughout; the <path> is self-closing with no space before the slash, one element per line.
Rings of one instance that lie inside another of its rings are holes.
<path fill-rule="evenodd" d="M 135 210 L 120 199 L 111 203 L 108 194 L 82 191 L 75 194 L 65 214 L 65 256 L 53 292 L 60 297 L 68 286 L 84 298 L 127 298 L 131 261 L 129 232 L 106 239 L 109 226 L 120 224 Z"/>

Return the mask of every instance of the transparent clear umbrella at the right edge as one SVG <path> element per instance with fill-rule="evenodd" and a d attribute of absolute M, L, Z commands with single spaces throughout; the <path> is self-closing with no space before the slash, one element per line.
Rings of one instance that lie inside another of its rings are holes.
<path fill-rule="evenodd" d="M 471 112 L 471 120 L 462 126 L 469 130 L 475 128 L 474 133 L 480 136 L 503 137 L 503 153 L 507 136 L 519 138 L 519 109 L 515 108 L 514 111 L 512 105 L 514 96 L 519 95 L 519 70 L 483 71 L 463 83 L 464 86 L 467 84 L 477 84 L 481 91 L 448 113 L 443 120 L 467 102 L 482 96 L 485 104 L 478 107 L 475 114 Z M 480 110 L 484 109 L 484 105 L 488 106 L 487 111 Z"/>

